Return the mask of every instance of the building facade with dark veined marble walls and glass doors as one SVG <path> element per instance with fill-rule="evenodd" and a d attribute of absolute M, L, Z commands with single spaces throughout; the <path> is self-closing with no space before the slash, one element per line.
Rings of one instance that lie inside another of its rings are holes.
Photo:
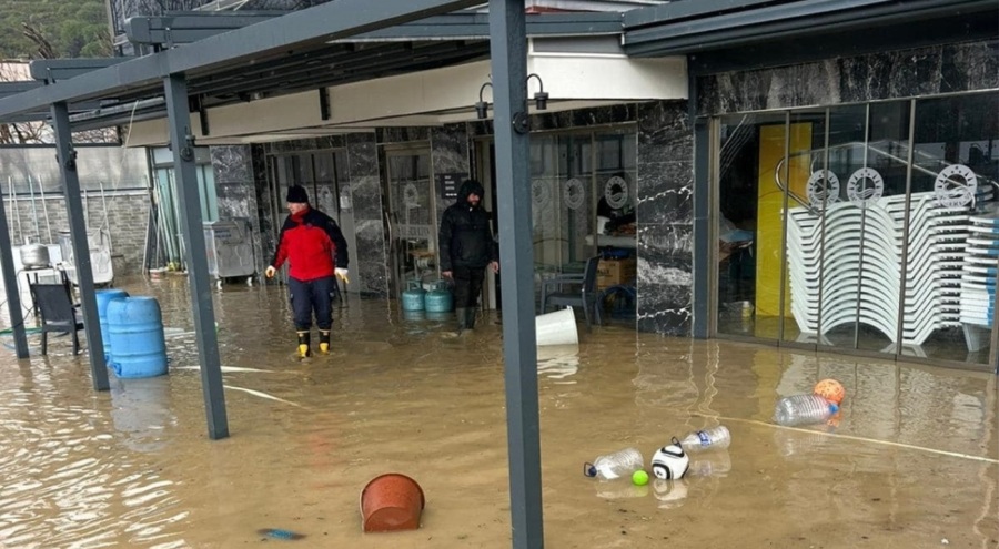
<path fill-rule="evenodd" d="M 807 2 L 744 2 L 741 19 L 714 2 L 613 3 L 630 11 L 609 42 L 532 39 L 528 65 L 553 95 L 531 119 L 536 281 L 610 254 L 636 264 L 622 282 L 639 331 L 997 369 L 995 7 L 904 14 L 871 0 L 813 13 L 825 30 L 764 28 L 746 42 L 747 21 L 790 24 Z M 685 44 L 676 26 L 692 21 L 727 38 Z M 503 184 L 491 121 L 472 111 L 488 78 L 476 63 L 406 77 L 418 84 L 330 88 L 327 118 L 296 95 L 210 111 L 198 142 L 211 148 L 220 217 L 248 217 L 265 261 L 282 189 L 303 183 L 351 235 L 352 289 L 395 298 L 408 279 L 435 279 L 454 185 L 483 181 L 494 209 Z M 278 101 L 286 115 L 246 122 Z M 131 130 L 134 145 L 165 139 L 155 122 Z"/>

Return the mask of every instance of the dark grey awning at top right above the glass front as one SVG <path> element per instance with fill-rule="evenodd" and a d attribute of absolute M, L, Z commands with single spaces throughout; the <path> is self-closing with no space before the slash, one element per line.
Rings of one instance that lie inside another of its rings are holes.
<path fill-rule="evenodd" d="M 628 55 L 693 55 L 696 73 L 996 37 L 999 2 L 677 1 L 627 12 L 624 27 Z"/>

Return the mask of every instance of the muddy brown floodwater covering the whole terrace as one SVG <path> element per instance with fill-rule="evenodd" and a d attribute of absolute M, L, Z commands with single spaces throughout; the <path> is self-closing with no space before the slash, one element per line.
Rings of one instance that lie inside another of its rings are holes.
<path fill-rule="evenodd" d="M 300 362 L 284 289 L 225 286 L 231 437 L 211 441 L 184 282 L 121 287 L 159 298 L 170 375 L 112 376 L 95 393 L 64 337 L 47 357 L 30 338 L 20 363 L 0 349 L 0 546 L 511 546 L 495 315 L 446 339 L 451 322 L 351 297 L 334 352 Z M 546 547 L 999 547 L 995 375 L 636 335 L 620 321 L 581 337 L 539 356 Z M 777 398 L 826 377 L 847 390 L 835 425 L 771 424 Z M 693 454 L 683 480 L 582 474 L 628 446 L 648 469 L 670 437 L 719 423 L 731 446 Z M 422 486 L 422 527 L 362 533 L 361 489 L 389 471 Z"/>

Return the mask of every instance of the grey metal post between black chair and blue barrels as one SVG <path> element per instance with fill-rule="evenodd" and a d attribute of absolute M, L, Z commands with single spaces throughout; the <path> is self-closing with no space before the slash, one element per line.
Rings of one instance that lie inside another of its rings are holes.
<path fill-rule="evenodd" d="M 104 343 L 101 340 L 101 323 L 98 318 L 97 297 L 93 292 L 93 270 L 90 262 L 90 243 L 87 241 L 87 223 L 83 221 L 83 203 L 80 200 L 80 176 L 77 174 L 77 151 L 69 124 L 69 109 L 64 102 L 52 103 L 52 128 L 56 131 L 56 152 L 59 172 L 62 174 L 62 193 L 69 216 L 70 241 L 80 285 L 80 303 L 83 305 L 83 332 L 87 334 L 87 352 L 90 355 L 90 373 L 94 390 L 108 390 L 108 367 L 104 364 Z"/>

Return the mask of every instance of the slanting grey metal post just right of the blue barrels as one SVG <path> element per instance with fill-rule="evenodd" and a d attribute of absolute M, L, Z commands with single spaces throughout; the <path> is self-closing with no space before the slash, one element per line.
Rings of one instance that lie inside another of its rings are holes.
<path fill-rule="evenodd" d="M 212 308 L 212 285 L 209 281 L 208 254 L 204 247 L 201 195 L 198 191 L 198 173 L 194 166 L 194 138 L 191 132 L 191 115 L 188 112 L 186 78 L 183 74 L 171 74 L 163 79 L 163 88 L 167 92 L 174 181 L 181 204 L 188 283 L 201 364 L 201 390 L 204 394 L 209 437 L 218 440 L 229 436 L 229 420 L 225 415 L 219 338 L 215 335 L 215 312 Z"/>

